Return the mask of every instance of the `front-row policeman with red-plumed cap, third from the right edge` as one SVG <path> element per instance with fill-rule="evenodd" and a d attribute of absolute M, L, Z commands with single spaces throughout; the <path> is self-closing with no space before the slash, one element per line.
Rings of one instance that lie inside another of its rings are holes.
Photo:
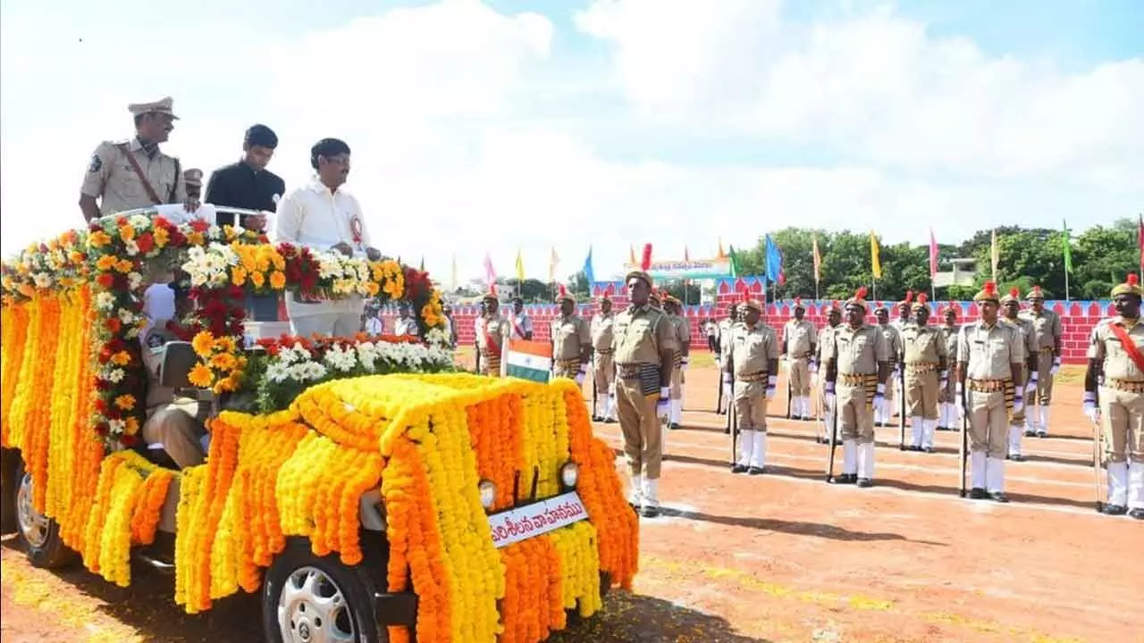
<path fill-rule="evenodd" d="M 847 301 L 847 323 L 823 347 L 826 402 L 835 404 L 842 434 L 842 475 L 837 484 L 873 486 L 874 407 L 885 398 L 892 354 L 880 327 L 866 324 L 866 288 Z"/>

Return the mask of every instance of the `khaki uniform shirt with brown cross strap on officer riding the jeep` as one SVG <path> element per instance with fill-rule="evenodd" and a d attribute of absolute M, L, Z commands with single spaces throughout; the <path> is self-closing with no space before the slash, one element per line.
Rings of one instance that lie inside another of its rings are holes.
<path fill-rule="evenodd" d="M 157 151 L 154 158 L 148 157 L 138 138 L 104 141 L 92 154 L 92 162 L 80 188 L 84 195 L 100 199 L 102 216 L 157 205 L 148 196 L 143 181 L 127 160 L 127 154 L 119 148 L 121 144 L 127 144 L 129 153 L 135 157 L 148 183 L 162 203 L 181 204 L 186 200 L 186 181 L 178 159 L 161 151 Z"/>

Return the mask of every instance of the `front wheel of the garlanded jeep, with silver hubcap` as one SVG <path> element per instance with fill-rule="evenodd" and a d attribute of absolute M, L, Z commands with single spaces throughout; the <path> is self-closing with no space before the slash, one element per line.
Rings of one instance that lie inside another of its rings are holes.
<path fill-rule="evenodd" d="M 262 584 L 262 632 L 268 643 L 386 643 L 373 605 L 365 569 L 343 565 L 336 554 L 315 556 L 309 540 L 292 538 Z"/>

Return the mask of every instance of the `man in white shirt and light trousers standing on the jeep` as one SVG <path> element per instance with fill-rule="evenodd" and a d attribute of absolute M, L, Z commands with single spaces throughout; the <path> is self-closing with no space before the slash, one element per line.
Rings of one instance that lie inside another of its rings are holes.
<path fill-rule="evenodd" d="M 350 173 L 350 148 L 337 138 L 323 138 L 310 149 L 310 165 L 317 173 L 310 183 L 278 201 L 273 240 L 304 246 L 312 252 L 340 252 L 371 261 L 381 253 L 370 245 L 362 206 L 342 190 Z M 352 336 L 362 324 L 360 296 L 312 300 L 296 293 L 286 295 L 291 333 L 301 336 Z"/>

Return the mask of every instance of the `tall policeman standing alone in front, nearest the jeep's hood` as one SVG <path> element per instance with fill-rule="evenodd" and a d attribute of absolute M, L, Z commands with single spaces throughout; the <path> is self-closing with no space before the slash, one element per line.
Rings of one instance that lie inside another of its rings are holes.
<path fill-rule="evenodd" d="M 659 515 L 659 469 L 662 438 L 659 415 L 667 412 L 675 363 L 675 328 L 651 305 L 651 277 L 633 270 L 625 278 L 627 310 L 615 316 L 615 391 L 631 486 L 628 501 L 644 517 Z"/>

